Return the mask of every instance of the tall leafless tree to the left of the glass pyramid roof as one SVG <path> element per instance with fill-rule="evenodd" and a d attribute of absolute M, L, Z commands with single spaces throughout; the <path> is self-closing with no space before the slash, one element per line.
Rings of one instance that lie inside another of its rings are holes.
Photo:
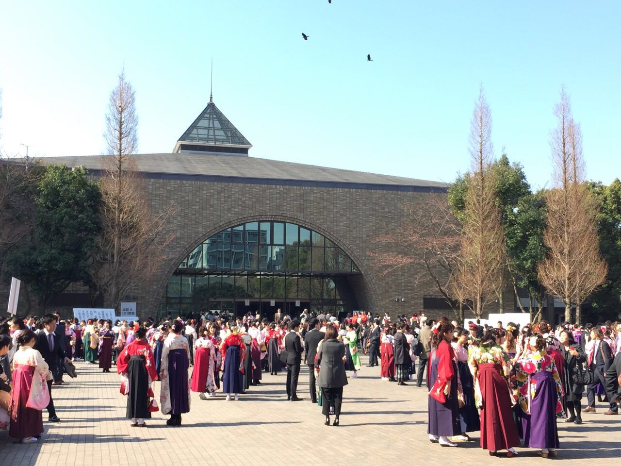
<path fill-rule="evenodd" d="M 137 148 L 134 89 L 124 73 L 110 94 L 101 177 L 101 234 L 91 276 L 107 305 L 116 308 L 130 288 L 147 280 L 165 258 L 172 237 L 165 224 L 169 206 L 152 215 L 132 154 Z"/>

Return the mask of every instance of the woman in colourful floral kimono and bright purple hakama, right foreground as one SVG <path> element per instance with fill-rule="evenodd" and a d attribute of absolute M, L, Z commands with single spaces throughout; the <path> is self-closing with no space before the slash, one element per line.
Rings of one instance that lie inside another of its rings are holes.
<path fill-rule="evenodd" d="M 563 386 L 556 364 L 546 352 L 546 340 L 533 335 L 530 352 L 515 365 L 519 401 L 524 411 L 524 446 L 542 449 L 540 457 L 556 457 L 556 417 L 563 418 Z"/>

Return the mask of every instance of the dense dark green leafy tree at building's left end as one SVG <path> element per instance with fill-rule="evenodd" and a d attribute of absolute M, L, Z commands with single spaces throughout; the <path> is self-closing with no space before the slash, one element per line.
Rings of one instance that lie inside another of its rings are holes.
<path fill-rule="evenodd" d="M 30 242 L 7 258 L 7 270 L 45 306 L 70 283 L 90 285 L 88 270 L 99 231 L 101 194 L 85 168 L 50 165 L 35 198 Z"/>

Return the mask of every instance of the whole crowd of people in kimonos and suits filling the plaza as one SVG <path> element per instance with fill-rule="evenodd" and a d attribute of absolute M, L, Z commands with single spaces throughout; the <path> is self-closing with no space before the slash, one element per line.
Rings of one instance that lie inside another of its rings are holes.
<path fill-rule="evenodd" d="M 286 371 L 287 400 L 301 401 L 304 363 L 309 401 L 322 408 L 326 425 L 333 415 L 338 426 L 343 387 L 358 377 L 361 352 L 369 367 L 381 366 L 382 380 L 399 386 L 426 381 L 431 442 L 456 447 L 455 439 L 470 441 L 469 434 L 480 431 L 481 447 L 492 455 L 507 450 L 512 457 L 524 445 L 554 457 L 558 419 L 581 424 L 582 413 L 595 412 L 595 396 L 609 403 L 605 414 L 617 414 L 621 396 L 619 322 L 463 327 L 424 313 L 393 321 L 388 313 L 333 316 L 307 309 L 295 318 L 278 309 L 269 320 L 252 313 L 143 322 L 63 321 L 45 314 L 0 322 L 0 428 L 20 442 L 35 442 L 43 409 L 48 421 L 60 422 L 52 386 L 63 383 L 72 360 L 97 363 L 102 372 L 116 368 L 135 427 L 147 426 L 160 410 L 170 415 L 167 425 L 180 426 L 193 392 L 200 400 L 219 392 L 238 400 L 268 372 Z"/>

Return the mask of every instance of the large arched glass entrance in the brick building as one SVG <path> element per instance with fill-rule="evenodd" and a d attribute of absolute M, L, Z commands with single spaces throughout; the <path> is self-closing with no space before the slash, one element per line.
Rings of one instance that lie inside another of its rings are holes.
<path fill-rule="evenodd" d="M 351 258 L 318 232 L 288 222 L 247 222 L 184 258 L 168 280 L 160 315 L 211 309 L 271 318 L 276 308 L 291 316 L 304 308 L 338 315 L 356 309 L 354 275 L 360 270 Z"/>

